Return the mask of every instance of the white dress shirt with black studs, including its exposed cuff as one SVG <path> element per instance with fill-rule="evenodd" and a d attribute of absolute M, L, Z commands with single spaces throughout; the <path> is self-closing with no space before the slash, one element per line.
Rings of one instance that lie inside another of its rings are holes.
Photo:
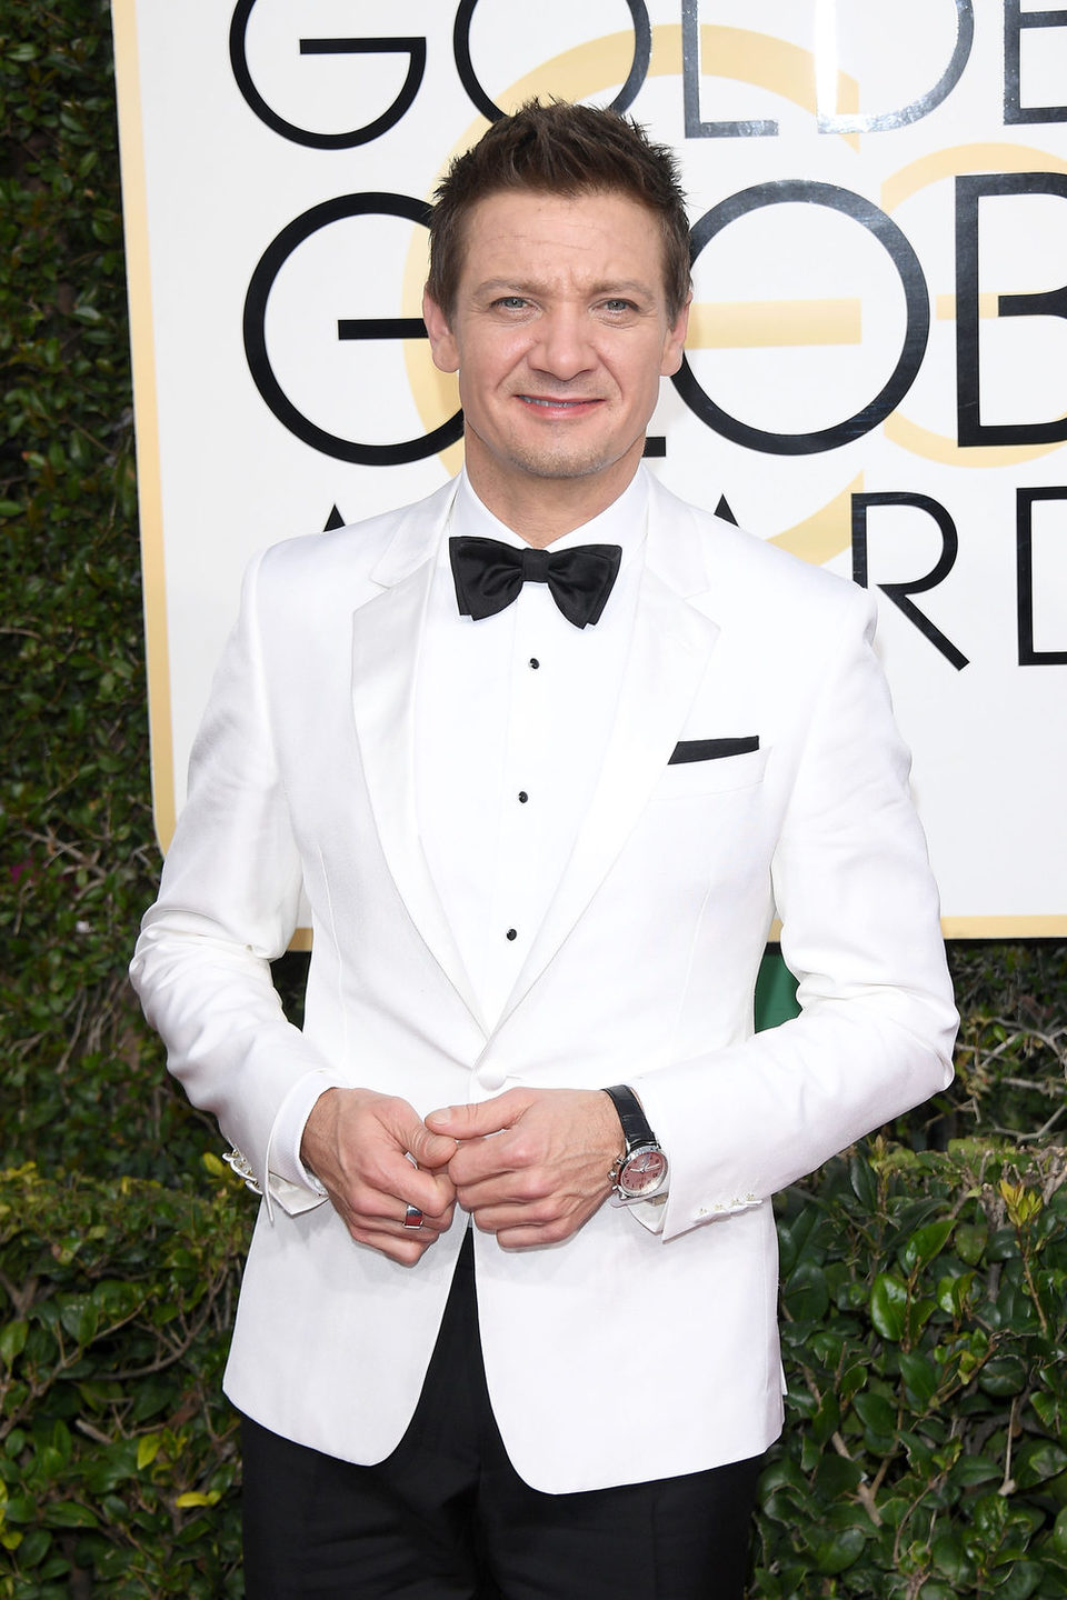
<path fill-rule="evenodd" d="M 646 510 L 640 467 L 606 510 L 550 546 L 621 547 L 597 624 L 574 627 L 537 582 L 475 621 L 459 613 L 448 539 L 526 544 L 482 504 L 466 472 L 456 491 L 416 674 L 414 790 L 422 850 L 486 1032 L 552 902 L 600 774 L 633 630 Z M 318 1096 L 344 1082 L 315 1072 L 290 1091 L 270 1141 L 277 1176 L 325 1194 L 299 1147 Z"/>

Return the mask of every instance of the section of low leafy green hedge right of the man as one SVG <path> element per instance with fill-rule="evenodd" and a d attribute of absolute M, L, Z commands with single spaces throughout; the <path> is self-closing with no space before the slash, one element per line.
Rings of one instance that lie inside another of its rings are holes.
<path fill-rule="evenodd" d="M 758 1600 L 1067 1594 L 1065 1179 L 1062 1149 L 875 1141 L 782 1197 Z"/>

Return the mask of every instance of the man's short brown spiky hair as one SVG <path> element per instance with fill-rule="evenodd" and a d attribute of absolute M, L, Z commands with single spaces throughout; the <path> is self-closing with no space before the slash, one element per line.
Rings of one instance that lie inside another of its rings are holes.
<path fill-rule="evenodd" d="M 442 179 L 430 214 L 430 298 L 450 317 L 474 206 L 502 190 L 622 194 L 659 218 L 670 320 L 689 293 L 689 222 L 673 150 L 629 117 L 597 106 L 531 99 L 501 117 Z"/>

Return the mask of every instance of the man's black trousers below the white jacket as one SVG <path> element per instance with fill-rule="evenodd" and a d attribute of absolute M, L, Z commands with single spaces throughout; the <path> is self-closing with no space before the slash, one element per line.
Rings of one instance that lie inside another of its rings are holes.
<path fill-rule="evenodd" d="M 640 1397 L 621 1397 L 621 1435 L 640 1411 Z M 485 1386 L 470 1238 L 392 1456 L 352 1466 L 248 1418 L 242 1434 L 248 1600 L 744 1595 L 758 1458 L 579 1494 L 522 1482 Z"/>

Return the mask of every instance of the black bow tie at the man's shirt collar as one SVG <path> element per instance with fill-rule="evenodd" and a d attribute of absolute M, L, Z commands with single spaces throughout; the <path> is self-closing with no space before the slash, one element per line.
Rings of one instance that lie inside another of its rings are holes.
<path fill-rule="evenodd" d="M 582 544 L 573 550 L 517 550 L 499 539 L 450 539 L 448 554 L 461 616 L 480 619 L 504 611 L 523 584 L 547 584 L 568 622 L 598 622 L 619 571 L 617 544 Z"/>

